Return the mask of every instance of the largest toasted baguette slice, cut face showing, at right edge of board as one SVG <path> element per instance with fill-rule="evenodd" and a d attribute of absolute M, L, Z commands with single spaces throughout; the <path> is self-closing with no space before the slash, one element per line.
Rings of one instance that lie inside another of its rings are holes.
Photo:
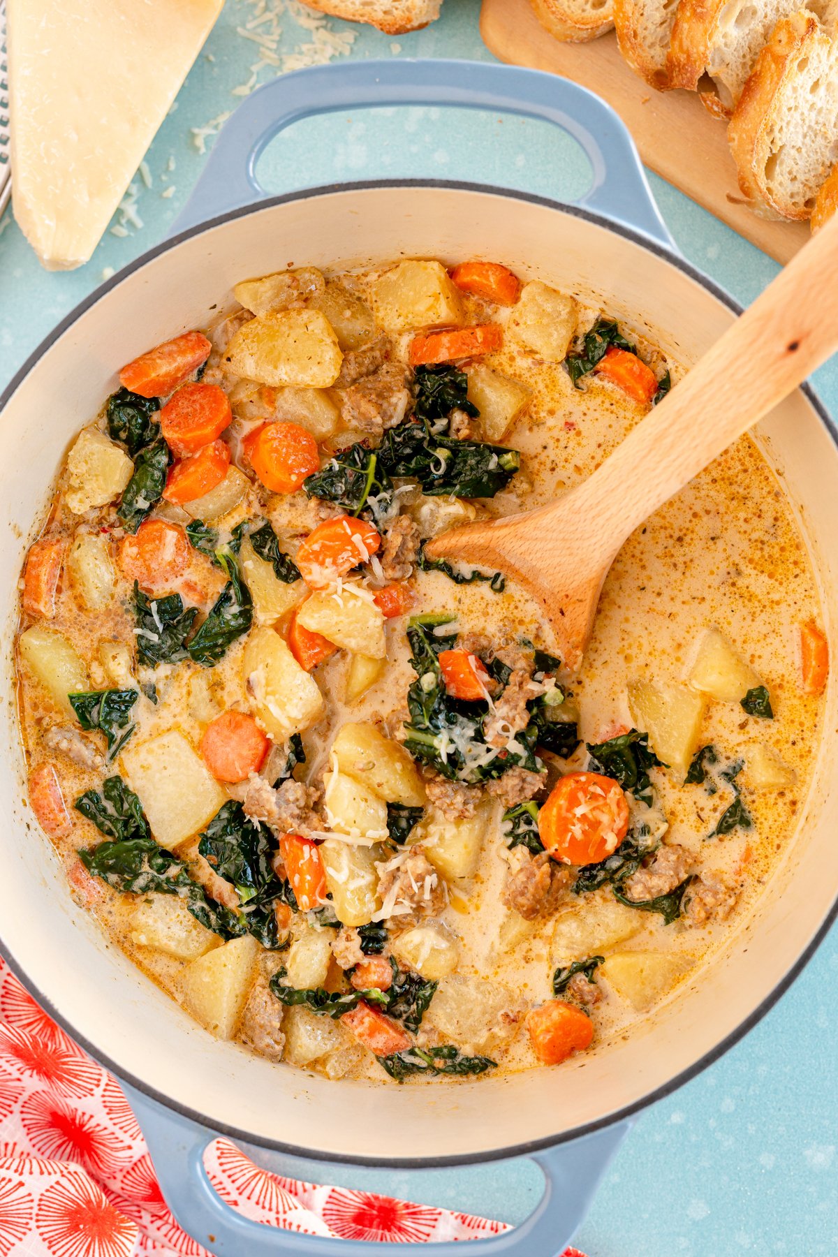
<path fill-rule="evenodd" d="M 838 47 L 807 9 L 776 24 L 727 128 L 739 186 L 769 216 L 808 219 L 838 162 Z"/>

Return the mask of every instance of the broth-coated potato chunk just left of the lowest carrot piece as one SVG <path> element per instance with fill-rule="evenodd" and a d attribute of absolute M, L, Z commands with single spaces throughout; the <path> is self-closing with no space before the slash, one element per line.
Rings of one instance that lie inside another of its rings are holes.
<path fill-rule="evenodd" d="M 492 1052 L 518 1031 L 518 1023 L 501 1014 L 521 1009 L 521 998 L 509 987 L 451 974 L 440 982 L 423 1024 L 435 1026 L 446 1042 L 465 1045 L 474 1052 Z"/>

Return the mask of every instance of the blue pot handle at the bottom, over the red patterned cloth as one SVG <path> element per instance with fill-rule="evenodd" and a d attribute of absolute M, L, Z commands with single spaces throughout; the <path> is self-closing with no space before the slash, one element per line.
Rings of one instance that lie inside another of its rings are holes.
<path fill-rule="evenodd" d="M 307 1236 L 253 1222 L 217 1195 L 204 1168 L 212 1131 L 122 1084 L 139 1121 L 166 1204 L 180 1226 L 216 1257 L 405 1257 L 402 1243 Z M 608 1163 L 631 1129 L 624 1120 L 531 1154 L 545 1190 L 519 1227 L 469 1244 L 474 1257 L 558 1257 L 585 1216 Z M 239 1145 L 245 1154 L 248 1145 Z M 462 1257 L 460 1242 L 426 1243 L 423 1257 Z"/>

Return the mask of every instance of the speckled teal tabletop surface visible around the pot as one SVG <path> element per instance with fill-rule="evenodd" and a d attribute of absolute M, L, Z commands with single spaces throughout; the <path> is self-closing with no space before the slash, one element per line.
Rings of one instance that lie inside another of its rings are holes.
<path fill-rule="evenodd" d="M 249 85 L 312 58 L 491 60 L 477 18 L 477 0 L 446 0 L 442 18 L 427 30 L 393 39 L 324 21 L 291 0 L 227 0 L 131 195 L 87 266 L 64 274 L 41 270 L 6 214 L 0 226 L 0 387 L 77 302 L 166 235 L 212 134 Z M 413 108 L 299 123 L 266 151 L 260 176 L 278 192 L 333 181 L 430 176 L 560 197 L 579 192 L 587 171 L 575 145 L 545 123 Z M 764 254 L 670 185 L 652 177 L 652 187 L 678 248 L 734 297 L 746 303 L 771 279 L 776 265 Z M 827 406 L 838 411 L 834 361 L 815 383 Z M 79 415 L 79 424 L 84 419 Z M 36 426 L 36 419 L 33 422 Z M 589 1257 L 838 1252 L 837 984 L 833 930 L 744 1042 L 641 1115 L 577 1236 Z M 513 1223 L 530 1212 L 540 1187 L 539 1173 L 525 1161 L 421 1175 L 351 1173 L 308 1163 L 299 1173 Z"/>

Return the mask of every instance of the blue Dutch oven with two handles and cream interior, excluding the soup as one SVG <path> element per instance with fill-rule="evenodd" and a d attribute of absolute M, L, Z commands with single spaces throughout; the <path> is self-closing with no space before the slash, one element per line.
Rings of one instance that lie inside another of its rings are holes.
<path fill-rule="evenodd" d="M 548 119 L 584 148 L 592 187 L 577 205 L 431 181 L 265 196 L 255 165 L 283 127 L 312 113 L 393 104 L 472 106 Z M 268 1166 L 271 1149 L 420 1168 L 530 1154 L 547 1180 L 540 1204 L 515 1231 L 475 1242 L 474 1257 L 560 1252 L 631 1115 L 740 1038 L 800 970 L 835 911 L 838 802 L 830 782 L 834 733 L 828 733 L 798 836 L 755 914 L 626 1040 L 555 1070 L 400 1087 L 330 1082 L 211 1038 L 70 900 L 64 871 L 24 803 L 11 667 L 18 574 L 65 446 L 116 387 L 116 367 L 182 329 L 204 327 L 239 279 L 286 264 L 346 268 L 417 255 L 495 258 L 524 278 L 599 294 L 603 308 L 647 326 L 665 352 L 687 365 L 736 312 L 678 256 L 628 133 L 589 92 L 498 65 L 358 62 L 290 74 L 249 97 L 217 137 L 177 234 L 64 319 L 3 398 L 3 953 L 39 1003 L 129 1085 L 175 1216 L 227 1257 L 371 1257 L 373 1247 L 381 1257 L 403 1257 L 405 1249 L 271 1231 L 236 1216 L 202 1169 L 201 1153 L 215 1133 L 245 1150 L 256 1145 Z M 798 509 L 829 623 L 838 590 L 834 425 L 804 388 L 760 425 L 758 440 Z M 833 678 L 825 729 L 837 724 Z M 430 1257 L 454 1252 L 450 1244 L 427 1247 Z"/>

